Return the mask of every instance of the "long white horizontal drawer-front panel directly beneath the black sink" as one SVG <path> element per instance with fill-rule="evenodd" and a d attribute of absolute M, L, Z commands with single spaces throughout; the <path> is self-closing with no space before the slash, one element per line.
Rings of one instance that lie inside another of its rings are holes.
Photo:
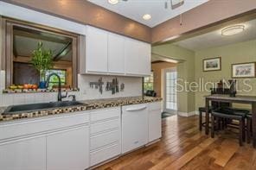
<path fill-rule="evenodd" d="M 61 116 L 48 116 L 19 123 L 6 123 L 0 125 L 0 141 L 22 135 L 34 135 L 54 129 L 76 126 L 89 123 L 88 113 L 72 113 Z"/>

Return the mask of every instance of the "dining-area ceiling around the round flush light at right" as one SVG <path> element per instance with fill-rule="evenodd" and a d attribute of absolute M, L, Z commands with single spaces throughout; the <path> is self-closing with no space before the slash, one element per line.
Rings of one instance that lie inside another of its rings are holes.
<path fill-rule="evenodd" d="M 208 47 L 220 47 L 228 44 L 256 39 L 256 19 L 248 22 L 241 22 L 239 24 L 245 26 L 245 31 L 237 35 L 223 36 L 221 35 L 221 29 L 223 28 L 221 28 L 203 35 L 197 35 L 195 37 L 185 39 L 183 41 L 177 41 L 174 44 L 196 51 Z"/>

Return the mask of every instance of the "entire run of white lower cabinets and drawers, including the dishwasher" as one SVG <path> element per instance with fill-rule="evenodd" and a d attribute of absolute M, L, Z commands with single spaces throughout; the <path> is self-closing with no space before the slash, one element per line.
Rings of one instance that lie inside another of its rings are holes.
<path fill-rule="evenodd" d="M 84 170 L 161 137 L 160 103 L 122 112 L 114 107 L 0 124 L 0 169 Z"/>

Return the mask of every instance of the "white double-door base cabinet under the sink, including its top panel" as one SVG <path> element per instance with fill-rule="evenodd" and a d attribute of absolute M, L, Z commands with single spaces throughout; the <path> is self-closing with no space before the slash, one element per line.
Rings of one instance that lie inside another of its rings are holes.
<path fill-rule="evenodd" d="M 89 167 L 89 114 L 0 123 L 0 169 L 84 170 Z"/>

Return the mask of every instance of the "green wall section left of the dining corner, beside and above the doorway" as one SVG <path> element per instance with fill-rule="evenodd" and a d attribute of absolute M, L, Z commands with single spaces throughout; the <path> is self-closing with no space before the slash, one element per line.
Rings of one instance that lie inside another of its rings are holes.
<path fill-rule="evenodd" d="M 177 60 L 185 60 L 177 65 L 178 78 L 194 81 L 195 52 L 172 44 L 152 47 L 152 53 L 170 56 Z M 178 111 L 195 111 L 195 93 L 190 91 L 178 92 Z"/>

